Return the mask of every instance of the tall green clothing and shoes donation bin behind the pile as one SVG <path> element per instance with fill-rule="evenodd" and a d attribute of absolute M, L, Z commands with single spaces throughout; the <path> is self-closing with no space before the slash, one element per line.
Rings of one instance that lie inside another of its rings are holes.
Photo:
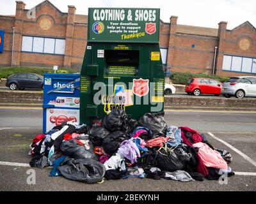
<path fill-rule="evenodd" d="M 134 119 L 163 111 L 159 15 L 154 8 L 89 8 L 81 69 L 81 124 L 100 126 L 116 109 Z"/>

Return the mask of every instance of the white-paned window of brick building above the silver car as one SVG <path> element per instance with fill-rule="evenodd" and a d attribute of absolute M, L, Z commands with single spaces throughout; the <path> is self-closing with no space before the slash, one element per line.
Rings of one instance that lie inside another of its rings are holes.
<path fill-rule="evenodd" d="M 256 73 L 256 59 L 251 57 L 224 55 L 222 70 L 243 73 Z"/>

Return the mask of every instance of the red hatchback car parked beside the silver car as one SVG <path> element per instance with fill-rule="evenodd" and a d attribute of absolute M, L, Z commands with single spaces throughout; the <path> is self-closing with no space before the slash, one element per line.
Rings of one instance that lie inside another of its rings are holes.
<path fill-rule="evenodd" d="M 214 94 L 219 96 L 221 94 L 222 84 L 212 78 L 191 78 L 188 81 L 185 91 L 187 94 L 194 94 L 199 96 L 200 94 Z"/>

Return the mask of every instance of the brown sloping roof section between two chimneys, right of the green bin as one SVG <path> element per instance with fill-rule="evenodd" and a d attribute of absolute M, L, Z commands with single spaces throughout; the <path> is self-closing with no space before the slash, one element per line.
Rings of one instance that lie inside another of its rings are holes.
<path fill-rule="evenodd" d="M 211 27 L 198 27 L 193 25 L 179 25 L 177 24 L 177 33 L 196 34 L 200 36 L 218 36 L 218 29 Z"/>

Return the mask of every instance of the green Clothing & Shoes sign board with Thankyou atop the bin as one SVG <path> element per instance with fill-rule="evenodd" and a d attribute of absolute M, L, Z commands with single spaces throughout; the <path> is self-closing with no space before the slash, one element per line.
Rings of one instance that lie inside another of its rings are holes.
<path fill-rule="evenodd" d="M 160 10 L 89 8 L 88 41 L 158 43 Z"/>

